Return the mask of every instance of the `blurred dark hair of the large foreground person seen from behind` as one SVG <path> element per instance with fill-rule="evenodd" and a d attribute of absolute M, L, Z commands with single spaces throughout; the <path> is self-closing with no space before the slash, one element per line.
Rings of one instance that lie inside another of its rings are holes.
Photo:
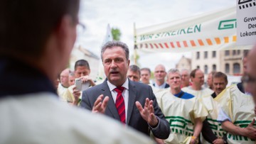
<path fill-rule="evenodd" d="M 63 16 L 78 23 L 80 0 L 1 0 L 0 55 L 41 57 Z"/>

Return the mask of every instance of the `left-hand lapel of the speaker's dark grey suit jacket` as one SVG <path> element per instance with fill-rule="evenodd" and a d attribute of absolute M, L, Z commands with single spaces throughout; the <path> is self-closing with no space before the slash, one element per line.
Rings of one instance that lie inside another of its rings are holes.
<path fill-rule="evenodd" d="M 110 92 L 110 88 L 107 85 L 107 79 L 105 79 L 105 81 L 102 84 L 102 94 L 105 96 L 109 96 L 110 100 L 107 103 L 107 109 L 110 111 L 110 113 L 112 113 L 112 115 L 114 116 L 114 118 L 119 119 L 119 114 L 117 112 L 117 108 L 114 104 L 114 100 L 112 97 L 112 94 Z M 106 111 L 107 111 L 106 109 Z"/>

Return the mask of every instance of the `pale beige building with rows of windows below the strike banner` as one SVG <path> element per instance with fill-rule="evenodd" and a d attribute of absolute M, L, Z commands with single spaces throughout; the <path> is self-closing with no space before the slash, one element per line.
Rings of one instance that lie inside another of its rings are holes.
<path fill-rule="evenodd" d="M 216 50 L 192 52 L 191 68 L 199 68 L 205 74 L 212 71 L 228 75 L 242 75 L 242 57 L 245 50 Z"/>

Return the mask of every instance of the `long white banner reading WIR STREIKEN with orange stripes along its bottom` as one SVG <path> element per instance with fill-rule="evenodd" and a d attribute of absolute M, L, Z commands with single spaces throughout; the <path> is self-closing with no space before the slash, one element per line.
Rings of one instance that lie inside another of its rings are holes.
<path fill-rule="evenodd" d="M 137 28 L 138 50 L 188 52 L 225 50 L 236 46 L 235 6 L 191 18 Z"/>

